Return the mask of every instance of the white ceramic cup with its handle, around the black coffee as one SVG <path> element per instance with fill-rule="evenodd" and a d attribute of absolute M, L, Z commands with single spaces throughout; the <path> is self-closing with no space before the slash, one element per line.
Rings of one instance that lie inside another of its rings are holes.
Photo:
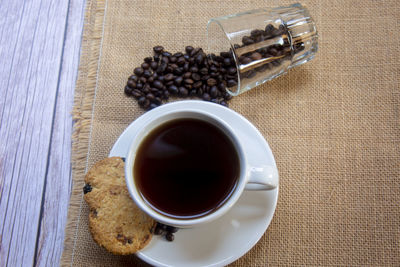
<path fill-rule="evenodd" d="M 136 154 L 138 152 L 140 144 L 146 138 L 146 136 L 148 136 L 153 130 L 166 122 L 184 118 L 203 120 L 218 127 L 233 143 L 240 162 L 240 174 L 237 186 L 232 192 L 230 198 L 212 213 L 194 219 L 172 218 L 168 217 L 167 215 L 161 214 L 160 212 L 153 209 L 142 198 L 139 189 L 137 188 L 134 181 L 135 177 L 133 172 Z M 138 132 L 137 136 L 131 143 L 128 155 L 125 159 L 125 180 L 128 191 L 137 206 L 160 223 L 172 225 L 179 228 L 190 228 L 200 224 L 211 222 L 221 217 L 230 208 L 232 208 L 244 190 L 272 190 L 278 186 L 279 176 L 276 168 L 273 166 L 249 165 L 246 160 L 246 155 L 243 152 L 243 146 L 245 146 L 245 144 L 240 142 L 239 138 L 235 134 L 235 130 L 214 114 L 194 109 L 185 109 L 164 113 L 145 122 L 143 128 Z"/>

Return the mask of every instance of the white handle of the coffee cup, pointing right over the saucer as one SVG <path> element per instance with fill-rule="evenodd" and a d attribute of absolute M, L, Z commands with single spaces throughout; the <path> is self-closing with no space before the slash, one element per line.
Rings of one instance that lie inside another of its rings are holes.
<path fill-rule="evenodd" d="M 245 190 L 273 190 L 278 187 L 279 175 L 275 166 L 259 166 L 249 168 L 249 180 Z"/>

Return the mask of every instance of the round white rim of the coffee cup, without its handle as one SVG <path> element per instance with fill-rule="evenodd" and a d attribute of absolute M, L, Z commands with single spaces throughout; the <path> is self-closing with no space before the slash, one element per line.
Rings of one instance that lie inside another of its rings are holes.
<path fill-rule="evenodd" d="M 200 115 L 202 117 L 195 117 L 195 116 L 193 116 L 194 114 Z M 194 219 L 172 218 L 172 217 L 168 217 L 168 216 L 163 215 L 163 214 L 157 212 L 156 210 L 154 210 L 140 196 L 139 190 L 136 187 L 136 184 L 134 182 L 134 177 L 133 177 L 133 167 L 134 167 L 134 162 L 135 162 L 135 155 L 136 155 L 138 148 L 140 147 L 140 143 L 144 140 L 144 138 L 146 136 L 148 136 L 148 134 L 151 131 L 153 131 L 160 125 L 162 125 L 168 121 L 178 119 L 178 118 L 196 118 L 196 119 L 202 119 L 207 122 L 210 122 L 210 119 L 211 119 L 211 123 L 213 123 L 214 125 L 219 127 L 231 139 L 232 143 L 235 146 L 236 152 L 239 157 L 239 162 L 240 162 L 238 183 L 237 183 L 236 189 L 234 189 L 234 192 L 229 197 L 229 199 L 223 205 L 221 205 L 215 211 L 213 211 L 212 213 L 207 214 L 202 217 L 199 217 L 199 218 L 194 218 Z M 206 111 L 199 111 L 199 110 L 195 110 L 195 109 L 170 111 L 170 112 L 162 114 L 161 116 L 158 116 L 158 117 L 148 120 L 146 122 L 146 124 L 143 126 L 143 128 L 137 133 L 136 137 L 133 139 L 133 141 L 129 147 L 128 155 L 126 156 L 126 160 L 125 160 L 125 182 L 126 182 L 129 194 L 130 194 L 132 200 L 136 203 L 136 205 L 142 211 L 144 211 L 146 214 L 148 214 L 150 217 L 155 219 L 157 222 L 180 227 L 180 228 L 186 228 L 186 227 L 191 227 L 191 226 L 211 222 L 211 221 L 221 217 L 223 214 L 225 214 L 237 202 L 237 200 L 241 196 L 242 192 L 244 191 L 245 185 L 247 183 L 247 178 L 248 178 L 247 172 L 248 172 L 247 171 L 247 161 L 246 161 L 246 157 L 244 154 L 244 150 L 242 148 L 242 144 L 240 143 L 239 139 L 234 134 L 233 129 L 227 123 L 225 123 L 222 119 L 218 118 L 217 116 L 215 116 L 209 112 L 206 112 Z"/>

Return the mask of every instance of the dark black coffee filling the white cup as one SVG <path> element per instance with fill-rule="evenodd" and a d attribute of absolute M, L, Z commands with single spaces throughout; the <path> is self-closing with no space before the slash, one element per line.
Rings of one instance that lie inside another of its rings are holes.
<path fill-rule="evenodd" d="M 225 203 L 239 178 L 232 141 L 213 124 L 176 119 L 142 142 L 133 175 L 143 199 L 173 218 L 205 216 Z"/>

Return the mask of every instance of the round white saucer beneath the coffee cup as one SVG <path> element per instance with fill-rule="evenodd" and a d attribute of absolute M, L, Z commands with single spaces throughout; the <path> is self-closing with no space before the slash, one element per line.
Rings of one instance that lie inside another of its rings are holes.
<path fill-rule="evenodd" d="M 183 108 L 206 110 L 225 120 L 243 144 L 251 165 L 275 166 L 275 159 L 261 133 L 243 116 L 221 105 L 186 100 L 153 109 L 121 134 L 109 156 L 125 157 L 130 143 L 146 120 L 166 111 Z M 155 266 L 224 266 L 249 251 L 267 230 L 275 212 L 278 188 L 271 191 L 245 191 L 235 206 L 214 222 L 192 229 L 181 229 L 168 242 L 154 236 L 137 256 Z"/>

